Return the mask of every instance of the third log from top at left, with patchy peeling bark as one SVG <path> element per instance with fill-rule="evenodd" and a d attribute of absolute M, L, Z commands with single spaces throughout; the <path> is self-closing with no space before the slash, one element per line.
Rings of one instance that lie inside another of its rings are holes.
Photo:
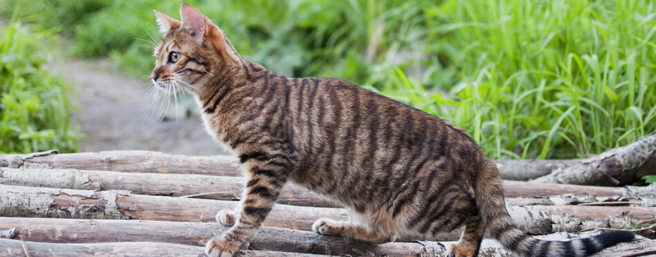
<path fill-rule="evenodd" d="M 213 222 L 217 212 L 237 206 L 236 201 L 142 196 L 123 190 L 0 185 L 0 216 Z M 309 230 L 321 217 L 348 220 L 345 209 L 276 205 L 264 224 Z"/>

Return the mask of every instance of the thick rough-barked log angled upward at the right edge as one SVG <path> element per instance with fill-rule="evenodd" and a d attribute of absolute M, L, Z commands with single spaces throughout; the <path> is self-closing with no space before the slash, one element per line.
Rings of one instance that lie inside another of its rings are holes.
<path fill-rule="evenodd" d="M 616 186 L 633 183 L 648 174 L 656 174 L 656 132 L 579 165 L 554 170 L 534 182 Z"/>

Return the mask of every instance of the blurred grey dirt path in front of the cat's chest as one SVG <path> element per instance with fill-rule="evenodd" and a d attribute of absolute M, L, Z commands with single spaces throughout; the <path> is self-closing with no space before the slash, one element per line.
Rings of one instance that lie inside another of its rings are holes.
<path fill-rule="evenodd" d="M 169 154 L 225 154 L 204 132 L 199 119 L 159 121 L 144 110 L 146 79 L 127 77 L 107 61 L 67 60 L 61 72 L 79 95 L 81 152 L 154 150 Z M 195 111 L 195 110 L 194 110 Z"/>

